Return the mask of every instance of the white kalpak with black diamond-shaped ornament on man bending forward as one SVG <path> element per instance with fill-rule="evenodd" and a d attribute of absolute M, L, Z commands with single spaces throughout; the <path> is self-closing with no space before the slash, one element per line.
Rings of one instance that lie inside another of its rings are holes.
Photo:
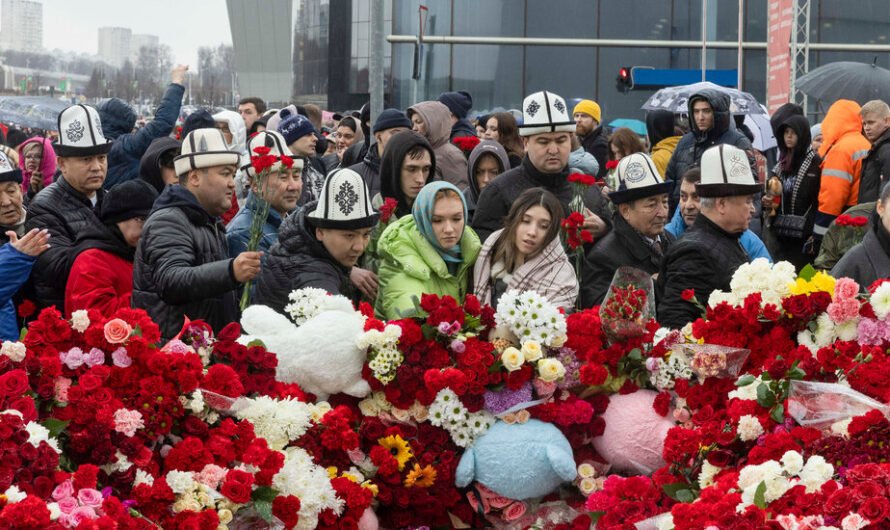
<path fill-rule="evenodd" d="M 316 228 L 358 230 L 376 225 L 380 214 L 371 206 L 361 175 L 344 168 L 328 175 L 318 204 L 307 217 Z"/>

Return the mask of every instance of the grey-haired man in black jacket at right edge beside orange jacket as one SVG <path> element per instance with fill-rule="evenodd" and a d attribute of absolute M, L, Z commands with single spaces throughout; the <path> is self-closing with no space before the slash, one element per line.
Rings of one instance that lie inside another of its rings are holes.
<path fill-rule="evenodd" d="M 877 201 L 881 188 L 890 180 L 890 106 L 878 99 L 869 101 L 859 115 L 862 132 L 871 142 L 859 177 L 859 204 L 862 204 Z"/>

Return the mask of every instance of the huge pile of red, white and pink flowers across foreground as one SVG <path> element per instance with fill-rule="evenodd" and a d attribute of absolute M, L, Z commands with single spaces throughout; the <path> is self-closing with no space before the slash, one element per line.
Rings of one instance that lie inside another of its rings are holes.
<path fill-rule="evenodd" d="M 363 306 L 368 386 L 326 401 L 238 323 L 44 310 L 0 346 L 0 529 L 890 526 L 890 281 L 755 261 L 667 330 L 618 276 L 568 315 Z"/>

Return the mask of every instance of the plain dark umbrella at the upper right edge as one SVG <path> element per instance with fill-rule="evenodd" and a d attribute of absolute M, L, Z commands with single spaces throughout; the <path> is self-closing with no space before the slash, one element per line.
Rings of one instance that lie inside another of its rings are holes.
<path fill-rule="evenodd" d="M 801 76 L 797 88 L 827 105 L 839 99 L 860 105 L 873 99 L 890 101 L 890 70 L 875 63 L 829 63 Z"/>

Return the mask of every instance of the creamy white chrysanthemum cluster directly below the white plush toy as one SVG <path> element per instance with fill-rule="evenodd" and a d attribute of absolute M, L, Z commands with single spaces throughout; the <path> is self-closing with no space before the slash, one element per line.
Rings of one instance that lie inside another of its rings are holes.
<path fill-rule="evenodd" d="M 312 423 L 309 407 L 296 399 L 281 400 L 268 396 L 241 398 L 235 413 L 240 420 L 249 420 L 257 436 L 265 438 L 271 449 L 283 449 L 288 443 L 306 434 Z"/>

